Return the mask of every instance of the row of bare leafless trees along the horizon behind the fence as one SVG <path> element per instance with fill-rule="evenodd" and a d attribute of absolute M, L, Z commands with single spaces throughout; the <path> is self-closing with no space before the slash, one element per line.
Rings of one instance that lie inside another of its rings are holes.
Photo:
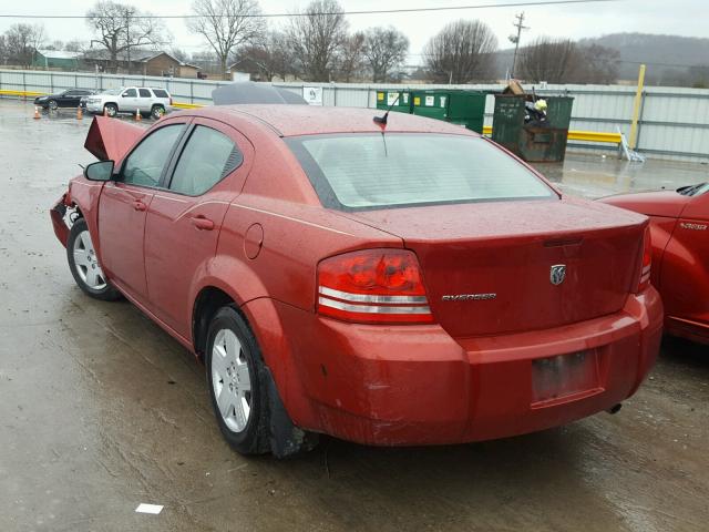
<path fill-rule="evenodd" d="M 261 80 L 389 82 L 404 78 L 407 35 L 393 25 L 350 31 L 337 0 L 311 0 L 278 27 L 260 17 L 258 0 L 195 0 L 191 14 L 186 25 L 208 52 L 191 57 L 178 47 L 169 51 L 185 62 L 212 61 L 225 78 L 229 66 Z M 92 33 L 88 43 L 48 43 L 41 24 L 13 24 L 0 35 L 0 62 L 29 66 L 35 49 L 63 49 L 102 53 L 109 71 L 116 71 L 133 50 L 166 50 L 173 44 L 162 19 L 131 4 L 100 0 L 88 10 L 85 22 Z M 424 45 L 419 70 L 422 80 L 434 83 L 494 81 L 510 74 L 507 60 L 489 24 L 454 20 Z M 612 48 L 542 37 L 520 48 L 514 75 L 530 82 L 613 83 L 619 61 Z"/>

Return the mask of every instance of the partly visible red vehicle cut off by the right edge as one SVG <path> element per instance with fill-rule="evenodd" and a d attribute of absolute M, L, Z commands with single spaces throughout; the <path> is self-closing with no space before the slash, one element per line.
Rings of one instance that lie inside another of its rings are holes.
<path fill-rule="evenodd" d="M 650 217 L 651 282 L 665 303 L 665 330 L 709 344 L 709 183 L 602 201 Z"/>

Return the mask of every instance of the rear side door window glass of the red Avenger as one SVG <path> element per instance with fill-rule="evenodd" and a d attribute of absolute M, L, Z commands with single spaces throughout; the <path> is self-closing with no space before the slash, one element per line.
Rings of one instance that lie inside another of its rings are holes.
<path fill-rule="evenodd" d="M 169 190 L 198 196 L 240 166 L 242 152 L 232 140 L 209 127 L 195 127 L 179 156 Z"/>

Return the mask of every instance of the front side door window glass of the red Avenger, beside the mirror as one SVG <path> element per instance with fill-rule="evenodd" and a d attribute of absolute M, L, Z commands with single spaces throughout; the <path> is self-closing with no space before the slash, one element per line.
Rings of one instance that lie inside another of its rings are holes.
<path fill-rule="evenodd" d="M 125 160 L 121 181 L 132 185 L 157 186 L 167 157 L 184 129 L 185 124 L 166 125 L 146 136 Z"/>

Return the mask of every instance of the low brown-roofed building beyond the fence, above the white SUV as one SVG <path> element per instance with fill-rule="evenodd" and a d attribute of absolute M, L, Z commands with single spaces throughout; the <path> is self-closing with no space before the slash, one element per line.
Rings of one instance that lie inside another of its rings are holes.
<path fill-rule="evenodd" d="M 199 66 L 185 63 L 161 50 L 131 50 L 119 53 L 114 64 L 106 50 L 89 50 L 84 62 L 99 68 L 101 72 L 119 72 L 165 78 L 197 78 Z"/>

